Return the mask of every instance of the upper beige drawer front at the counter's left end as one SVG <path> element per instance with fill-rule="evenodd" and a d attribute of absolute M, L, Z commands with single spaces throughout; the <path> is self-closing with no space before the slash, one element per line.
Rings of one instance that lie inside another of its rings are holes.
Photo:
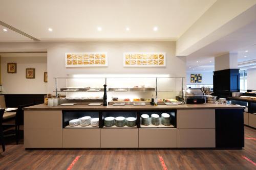
<path fill-rule="evenodd" d="M 62 112 L 25 110 L 24 129 L 62 129 Z"/>

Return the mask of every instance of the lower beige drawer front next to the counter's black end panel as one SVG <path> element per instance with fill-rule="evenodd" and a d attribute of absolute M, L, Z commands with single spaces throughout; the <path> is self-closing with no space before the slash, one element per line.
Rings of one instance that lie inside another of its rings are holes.
<path fill-rule="evenodd" d="M 178 148 L 215 148 L 215 129 L 177 129 Z"/>

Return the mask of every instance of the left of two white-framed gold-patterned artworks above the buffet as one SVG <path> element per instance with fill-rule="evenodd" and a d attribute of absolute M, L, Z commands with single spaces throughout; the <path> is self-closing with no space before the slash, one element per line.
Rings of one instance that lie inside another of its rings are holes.
<path fill-rule="evenodd" d="M 66 67 L 106 67 L 108 66 L 108 53 L 66 53 Z"/>

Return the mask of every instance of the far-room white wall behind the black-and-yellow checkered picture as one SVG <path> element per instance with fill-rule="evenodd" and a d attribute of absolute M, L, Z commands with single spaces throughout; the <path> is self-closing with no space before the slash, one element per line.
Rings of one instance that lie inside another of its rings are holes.
<path fill-rule="evenodd" d="M 202 74 L 202 83 L 190 83 L 191 74 Z M 214 82 L 214 72 L 187 72 L 186 73 L 186 82 L 188 84 L 213 84 Z"/>

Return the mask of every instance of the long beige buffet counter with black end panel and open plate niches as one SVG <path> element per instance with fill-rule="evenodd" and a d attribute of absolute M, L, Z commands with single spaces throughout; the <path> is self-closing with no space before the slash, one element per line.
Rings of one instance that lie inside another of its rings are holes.
<path fill-rule="evenodd" d="M 223 104 L 24 108 L 24 145 L 35 148 L 242 148 L 244 107 Z M 170 125 L 142 125 L 141 115 L 170 115 Z M 69 126 L 97 117 L 99 126 Z M 134 127 L 104 126 L 108 116 L 135 117 Z"/>

